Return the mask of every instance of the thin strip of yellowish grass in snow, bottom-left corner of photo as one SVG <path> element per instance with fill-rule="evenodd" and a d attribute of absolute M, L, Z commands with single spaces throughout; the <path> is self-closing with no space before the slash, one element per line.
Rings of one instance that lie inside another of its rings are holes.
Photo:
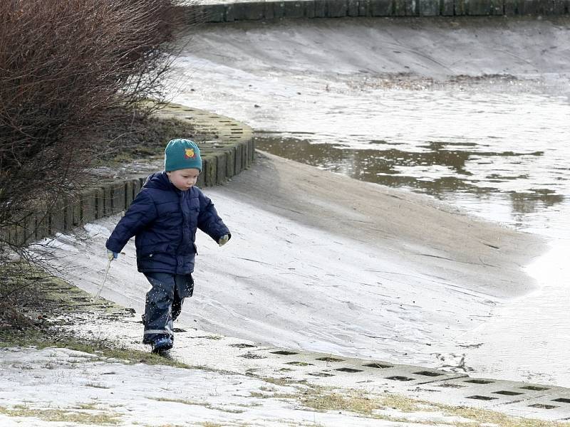
<path fill-rule="evenodd" d="M 95 426 L 116 426 L 121 422 L 118 413 L 86 413 L 80 411 L 64 411 L 63 409 L 4 408 L 0 413 L 6 416 L 39 418 L 42 421 L 94 424 Z"/>

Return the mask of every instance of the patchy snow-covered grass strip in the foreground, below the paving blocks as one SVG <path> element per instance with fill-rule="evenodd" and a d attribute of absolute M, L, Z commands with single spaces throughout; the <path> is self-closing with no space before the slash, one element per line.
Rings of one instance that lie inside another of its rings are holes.
<path fill-rule="evenodd" d="M 403 401 L 394 408 L 391 396 L 382 392 L 274 384 L 243 374 L 137 364 L 62 348 L 0 349 L 0 381 L 3 427 L 366 427 L 472 421 L 419 402 Z"/>

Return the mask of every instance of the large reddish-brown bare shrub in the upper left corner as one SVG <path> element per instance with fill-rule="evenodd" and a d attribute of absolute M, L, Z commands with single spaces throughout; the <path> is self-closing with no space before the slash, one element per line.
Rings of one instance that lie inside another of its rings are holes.
<path fill-rule="evenodd" d="M 0 16 L 6 248 L 8 228 L 38 206 L 48 214 L 86 183 L 103 127 L 161 96 L 180 22 L 170 0 L 4 0 Z"/>

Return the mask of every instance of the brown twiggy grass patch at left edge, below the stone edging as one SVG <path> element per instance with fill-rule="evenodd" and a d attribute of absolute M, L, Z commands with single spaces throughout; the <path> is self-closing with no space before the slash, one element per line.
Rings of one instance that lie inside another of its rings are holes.
<path fill-rule="evenodd" d="M 28 263 L 0 265 L 0 302 L 9 301 L 9 304 L 4 303 L 0 307 L 0 347 L 58 347 L 96 354 L 101 359 L 117 359 L 123 363 L 193 368 L 150 352 L 125 349 L 115 342 L 70 336 L 57 322 L 46 322 L 46 317 L 41 313 L 49 312 L 53 317 L 59 316 L 61 322 L 66 317 L 73 321 L 73 316 L 85 312 L 89 313 L 90 318 L 108 316 L 113 320 L 131 315 L 123 307 L 111 302 L 96 306 L 69 305 L 71 297 L 89 300 L 91 295 Z"/>

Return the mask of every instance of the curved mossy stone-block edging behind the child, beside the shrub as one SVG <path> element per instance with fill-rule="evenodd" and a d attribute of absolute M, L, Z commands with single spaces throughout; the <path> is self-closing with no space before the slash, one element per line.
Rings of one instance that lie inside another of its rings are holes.
<path fill-rule="evenodd" d="M 199 187 L 223 184 L 249 168 L 255 160 L 253 131 L 244 123 L 174 103 L 165 105 L 155 115 L 188 120 L 197 133 L 212 135 L 212 139 L 197 142 L 202 154 L 202 173 L 197 181 Z M 61 201 L 49 213 L 40 205 L 25 218 L 23 225 L 5 228 L 0 233 L 4 234 L 4 241 L 21 247 L 118 214 L 130 206 L 146 178 L 147 174 L 138 174 L 126 179 L 99 179 L 76 198 Z"/>

